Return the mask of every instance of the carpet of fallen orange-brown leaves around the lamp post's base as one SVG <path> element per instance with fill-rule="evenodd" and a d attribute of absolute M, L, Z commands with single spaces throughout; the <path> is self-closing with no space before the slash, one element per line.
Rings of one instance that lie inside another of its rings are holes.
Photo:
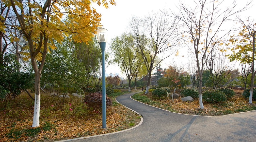
<path fill-rule="evenodd" d="M 40 126 L 45 122 L 48 122 L 54 126 L 55 129 L 50 131 L 43 131 L 41 129 L 40 133 L 34 137 L 26 136 L 21 134 L 15 136 L 12 134 L 11 138 L 8 138 L 6 134 L 12 132 L 13 130 L 24 130 L 32 129 L 33 118 L 26 120 L 16 120 L 9 119 L 4 120 L 0 118 L 0 141 L 56 141 L 84 136 L 99 135 L 105 133 L 113 133 L 116 131 L 121 131 L 130 128 L 129 123 L 138 124 L 140 122 L 140 116 L 135 112 L 125 108 L 122 105 L 117 105 L 112 107 L 113 113 L 106 118 L 106 129 L 102 128 L 102 119 L 62 119 L 62 120 L 52 120 L 43 119 L 40 120 Z M 31 117 L 31 116 L 30 116 Z M 35 128 L 35 127 L 33 127 Z M 19 137 L 19 138 L 18 138 Z"/>

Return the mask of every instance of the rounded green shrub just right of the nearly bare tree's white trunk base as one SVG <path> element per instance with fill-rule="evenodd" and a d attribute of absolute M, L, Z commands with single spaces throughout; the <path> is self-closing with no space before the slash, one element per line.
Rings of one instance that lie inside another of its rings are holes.
<path fill-rule="evenodd" d="M 227 96 L 220 90 L 207 90 L 202 92 L 202 99 L 208 103 L 219 103 L 227 101 Z"/>

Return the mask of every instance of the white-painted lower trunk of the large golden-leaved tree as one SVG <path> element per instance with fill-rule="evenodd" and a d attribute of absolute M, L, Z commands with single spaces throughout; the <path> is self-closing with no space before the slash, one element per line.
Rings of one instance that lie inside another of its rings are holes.
<path fill-rule="evenodd" d="M 39 113 L 40 113 L 40 93 L 35 94 L 35 107 L 32 127 L 39 126 Z"/>

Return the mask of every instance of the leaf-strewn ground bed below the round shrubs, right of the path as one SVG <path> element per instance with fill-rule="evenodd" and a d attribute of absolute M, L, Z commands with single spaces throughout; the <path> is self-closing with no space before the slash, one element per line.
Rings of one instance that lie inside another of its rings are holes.
<path fill-rule="evenodd" d="M 234 92 L 235 95 L 225 102 L 207 103 L 204 101 L 204 109 L 199 108 L 198 98 L 194 98 L 193 102 L 183 102 L 180 98 L 174 99 L 174 102 L 172 102 L 172 98 L 169 97 L 162 98 L 160 100 L 155 99 L 151 93 L 137 93 L 133 95 L 132 98 L 145 104 L 169 110 L 171 112 L 190 115 L 220 116 L 256 110 L 256 102 L 254 101 L 253 104 L 249 104 L 248 99 L 242 95 L 243 90 L 234 90 Z"/>

